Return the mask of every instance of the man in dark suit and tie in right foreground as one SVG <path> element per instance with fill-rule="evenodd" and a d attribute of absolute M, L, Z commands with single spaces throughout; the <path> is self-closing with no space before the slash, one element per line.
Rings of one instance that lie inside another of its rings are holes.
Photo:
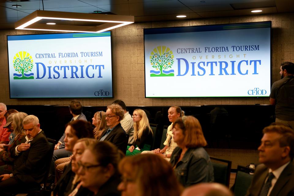
<path fill-rule="evenodd" d="M 281 123 L 263 129 L 259 150 L 259 165 L 251 186 L 250 196 L 294 195 L 294 132 Z"/>

